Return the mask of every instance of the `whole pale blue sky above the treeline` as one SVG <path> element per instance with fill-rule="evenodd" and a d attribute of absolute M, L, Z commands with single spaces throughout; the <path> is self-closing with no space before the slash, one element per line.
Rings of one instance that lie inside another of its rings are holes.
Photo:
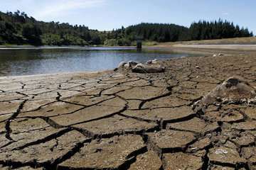
<path fill-rule="evenodd" d="M 255 0 L 1 0 L 0 11 L 25 11 L 40 21 L 84 24 L 112 30 L 136 23 L 227 19 L 256 34 Z"/>

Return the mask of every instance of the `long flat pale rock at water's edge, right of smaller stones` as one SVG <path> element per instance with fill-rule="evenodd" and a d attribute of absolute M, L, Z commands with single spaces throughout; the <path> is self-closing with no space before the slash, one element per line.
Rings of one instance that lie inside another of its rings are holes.
<path fill-rule="evenodd" d="M 132 72 L 137 73 L 159 73 L 164 72 L 165 68 L 160 65 L 149 66 L 146 64 L 137 64 L 134 68 L 132 68 Z"/>

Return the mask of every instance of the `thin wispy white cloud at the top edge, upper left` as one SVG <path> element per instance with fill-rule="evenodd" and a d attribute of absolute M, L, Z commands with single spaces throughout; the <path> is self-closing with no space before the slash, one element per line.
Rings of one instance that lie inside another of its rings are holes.
<path fill-rule="evenodd" d="M 38 19 L 63 16 L 63 14 L 69 11 L 82 8 L 92 8 L 102 6 L 104 4 L 105 0 L 52 0 L 43 4 L 43 6 L 39 6 L 35 11 L 34 16 Z"/>

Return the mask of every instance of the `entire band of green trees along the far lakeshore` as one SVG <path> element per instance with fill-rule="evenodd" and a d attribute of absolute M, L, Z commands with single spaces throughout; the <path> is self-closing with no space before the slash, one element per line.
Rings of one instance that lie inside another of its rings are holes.
<path fill-rule="evenodd" d="M 229 21 L 198 21 L 189 28 L 166 23 L 139 23 L 111 31 L 69 23 L 36 21 L 21 11 L 0 11 L 0 45 L 134 45 L 137 39 L 156 42 L 211 40 L 253 36 Z"/>

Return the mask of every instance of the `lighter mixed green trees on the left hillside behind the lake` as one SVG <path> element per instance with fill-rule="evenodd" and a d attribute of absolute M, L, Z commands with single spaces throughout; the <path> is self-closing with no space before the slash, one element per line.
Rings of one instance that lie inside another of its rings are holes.
<path fill-rule="evenodd" d="M 106 33 L 86 26 L 36 21 L 26 13 L 0 12 L 0 43 L 31 45 L 100 45 Z"/>

